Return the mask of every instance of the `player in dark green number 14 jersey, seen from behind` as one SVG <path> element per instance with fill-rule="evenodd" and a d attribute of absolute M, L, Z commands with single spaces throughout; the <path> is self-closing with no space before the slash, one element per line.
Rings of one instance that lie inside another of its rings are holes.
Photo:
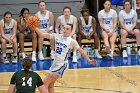
<path fill-rule="evenodd" d="M 40 93 L 47 93 L 41 77 L 31 71 L 32 60 L 29 57 L 23 59 L 23 70 L 13 74 L 7 93 L 35 93 L 36 86 Z"/>

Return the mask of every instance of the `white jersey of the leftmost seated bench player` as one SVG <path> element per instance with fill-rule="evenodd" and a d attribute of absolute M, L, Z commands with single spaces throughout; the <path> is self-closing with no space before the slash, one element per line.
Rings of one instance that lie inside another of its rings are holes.
<path fill-rule="evenodd" d="M 9 25 L 7 25 L 7 24 L 4 22 L 4 19 L 2 19 L 1 22 L 2 22 L 2 26 L 3 26 L 3 28 L 4 28 L 5 34 L 6 34 L 6 35 L 12 35 L 12 31 L 13 31 L 13 27 L 14 27 L 14 22 L 15 22 L 15 20 L 14 20 L 14 19 L 11 19 Z"/>

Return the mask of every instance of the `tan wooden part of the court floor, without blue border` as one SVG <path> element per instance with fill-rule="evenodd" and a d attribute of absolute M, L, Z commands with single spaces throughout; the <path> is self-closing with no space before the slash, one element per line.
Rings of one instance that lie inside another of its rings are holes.
<path fill-rule="evenodd" d="M 37 72 L 42 79 L 48 71 Z M 0 93 L 6 93 L 13 73 L 0 73 Z M 56 93 L 140 93 L 140 67 L 69 69 L 55 85 Z"/>

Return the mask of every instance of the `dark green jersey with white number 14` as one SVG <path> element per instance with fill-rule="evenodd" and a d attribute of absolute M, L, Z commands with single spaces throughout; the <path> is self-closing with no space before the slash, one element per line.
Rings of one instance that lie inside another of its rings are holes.
<path fill-rule="evenodd" d="M 35 93 L 36 86 L 43 85 L 40 76 L 33 71 L 29 71 L 29 76 L 26 79 L 24 70 L 17 71 L 11 78 L 10 84 L 16 85 L 16 93 Z"/>

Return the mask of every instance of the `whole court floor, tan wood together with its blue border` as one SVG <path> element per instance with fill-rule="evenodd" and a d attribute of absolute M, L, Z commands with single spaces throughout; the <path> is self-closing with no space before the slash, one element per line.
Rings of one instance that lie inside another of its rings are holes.
<path fill-rule="evenodd" d="M 63 78 L 56 82 L 56 93 L 140 93 L 140 57 L 137 55 L 127 59 L 115 56 L 112 61 L 103 57 L 96 65 L 83 58 L 78 63 L 71 61 Z M 37 61 L 32 69 L 43 79 L 51 64 L 50 59 Z M 12 74 L 20 69 L 20 61 L 18 64 L 0 63 L 0 93 L 6 93 Z"/>

